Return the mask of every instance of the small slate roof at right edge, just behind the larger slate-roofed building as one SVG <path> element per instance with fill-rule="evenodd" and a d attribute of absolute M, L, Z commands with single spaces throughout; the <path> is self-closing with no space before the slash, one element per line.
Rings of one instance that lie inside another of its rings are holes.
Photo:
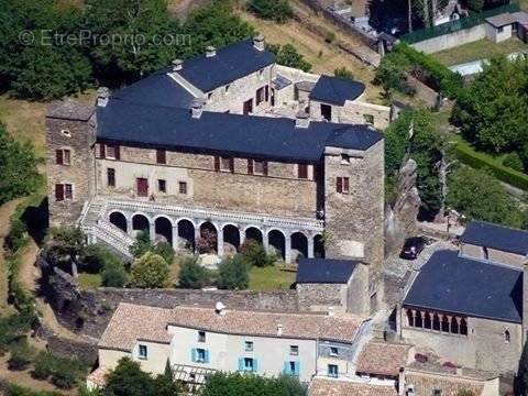
<path fill-rule="evenodd" d="M 528 254 L 528 232 L 484 221 L 472 221 L 460 237 L 463 243 L 515 254 Z"/>

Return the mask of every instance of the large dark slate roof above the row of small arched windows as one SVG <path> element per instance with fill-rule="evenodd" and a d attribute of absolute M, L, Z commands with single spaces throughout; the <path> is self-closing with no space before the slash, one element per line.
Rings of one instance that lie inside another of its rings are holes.
<path fill-rule="evenodd" d="M 520 323 L 522 272 L 438 251 L 421 267 L 405 306 Z"/>

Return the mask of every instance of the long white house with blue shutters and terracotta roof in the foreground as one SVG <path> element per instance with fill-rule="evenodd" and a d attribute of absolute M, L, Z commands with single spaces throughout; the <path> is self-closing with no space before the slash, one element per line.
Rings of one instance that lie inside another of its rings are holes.
<path fill-rule="evenodd" d="M 280 374 L 309 382 L 314 375 L 355 375 L 360 339 L 371 321 L 350 314 L 285 314 L 212 308 L 162 309 L 120 304 L 103 332 L 99 367 L 90 386 L 128 356 L 151 373 L 167 362 L 175 377 L 201 384 L 216 371 Z"/>

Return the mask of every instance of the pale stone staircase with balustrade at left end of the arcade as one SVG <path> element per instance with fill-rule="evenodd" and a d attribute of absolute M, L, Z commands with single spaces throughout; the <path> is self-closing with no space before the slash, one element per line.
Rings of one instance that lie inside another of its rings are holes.
<path fill-rule="evenodd" d="M 80 229 L 89 243 L 102 243 L 127 261 L 133 258 L 130 246 L 134 240 L 105 219 L 107 202 L 101 198 L 88 201 L 79 220 Z"/>

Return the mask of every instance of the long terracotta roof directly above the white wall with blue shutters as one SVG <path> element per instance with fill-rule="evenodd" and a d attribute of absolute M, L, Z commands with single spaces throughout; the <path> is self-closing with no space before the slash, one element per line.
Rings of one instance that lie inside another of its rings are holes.
<path fill-rule="evenodd" d="M 285 314 L 226 310 L 219 315 L 213 309 L 196 307 L 177 307 L 173 310 L 170 324 L 204 329 L 209 331 L 277 336 L 277 327 L 282 324 L 283 336 L 301 339 L 328 339 L 350 342 L 363 319 L 353 315 L 322 314 Z"/>

